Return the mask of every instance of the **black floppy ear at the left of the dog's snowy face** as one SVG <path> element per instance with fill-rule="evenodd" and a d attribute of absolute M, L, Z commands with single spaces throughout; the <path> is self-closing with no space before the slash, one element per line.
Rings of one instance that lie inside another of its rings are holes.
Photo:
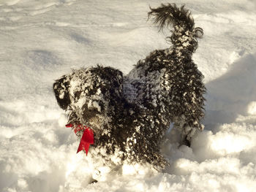
<path fill-rule="evenodd" d="M 63 110 L 67 110 L 67 107 L 70 104 L 69 98 L 69 80 L 67 76 L 62 76 L 59 80 L 53 83 L 53 91 L 56 96 L 56 100 L 59 104 L 59 107 Z"/>

